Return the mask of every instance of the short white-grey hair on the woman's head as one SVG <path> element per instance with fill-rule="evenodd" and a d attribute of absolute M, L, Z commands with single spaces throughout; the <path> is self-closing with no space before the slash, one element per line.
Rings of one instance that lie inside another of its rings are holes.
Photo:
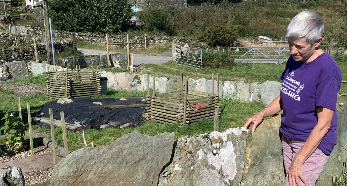
<path fill-rule="evenodd" d="M 307 43 L 314 45 L 323 31 L 323 19 L 313 10 L 304 10 L 289 23 L 286 38 L 305 38 Z"/>

